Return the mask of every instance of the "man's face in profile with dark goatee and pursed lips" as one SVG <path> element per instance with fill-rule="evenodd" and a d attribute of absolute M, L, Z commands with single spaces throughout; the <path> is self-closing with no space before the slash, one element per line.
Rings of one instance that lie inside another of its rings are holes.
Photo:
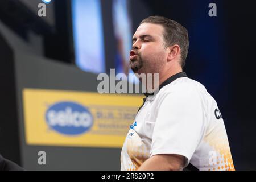
<path fill-rule="evenodd" d="M 142 23 L 133 36 L 130 67 L 134 73 L 160 73 L 167 59 L 164 28 L 159 24 Z"/>

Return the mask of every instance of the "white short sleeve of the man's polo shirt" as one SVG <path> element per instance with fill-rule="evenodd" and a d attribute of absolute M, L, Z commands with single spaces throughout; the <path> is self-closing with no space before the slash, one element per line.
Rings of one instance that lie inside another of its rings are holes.
<path fill-rule="evenodd" d="M 204 135 L 204 108 L 193 87 L 180 87 L 162 94 L 159 100 L 150 156 L 177 154 L 188 165 Z"/>

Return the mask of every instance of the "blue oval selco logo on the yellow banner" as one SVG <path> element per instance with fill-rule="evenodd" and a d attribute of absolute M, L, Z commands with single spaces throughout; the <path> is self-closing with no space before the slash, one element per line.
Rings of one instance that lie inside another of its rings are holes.
<path fill-rule="evenodd" d="M 65 135 L 79 135 L 90 130 L 93 117 L 90 111 L 75 102 L 57 102 L 46 111 L 46 122 Z"/>

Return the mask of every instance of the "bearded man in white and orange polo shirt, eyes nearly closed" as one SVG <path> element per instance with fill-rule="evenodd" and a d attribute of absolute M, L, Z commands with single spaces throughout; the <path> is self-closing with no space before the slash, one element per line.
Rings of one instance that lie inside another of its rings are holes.
<path fill-rule="evenodd" d="M 220 110 L 183 72 L 188 32 L 161 16 L 144 19 L 133 36 L 134 73 L 159 73 L 159 92 L 146 94 L 121 152 L 121 170 L 234 170 Z"/>

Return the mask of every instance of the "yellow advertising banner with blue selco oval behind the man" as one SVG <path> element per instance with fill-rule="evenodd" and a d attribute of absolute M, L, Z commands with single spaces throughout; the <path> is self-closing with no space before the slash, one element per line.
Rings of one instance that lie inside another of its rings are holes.
<path fill-rule="evenodd" d="M 121 148 L 142 95 L 23 89 L 26 143 Z"/>

